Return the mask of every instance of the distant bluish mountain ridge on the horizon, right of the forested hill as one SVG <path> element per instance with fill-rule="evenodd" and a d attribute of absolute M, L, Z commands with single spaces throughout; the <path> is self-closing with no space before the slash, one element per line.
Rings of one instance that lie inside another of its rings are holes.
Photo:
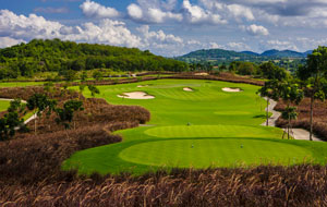
<path fill-rule="evenodd" d="M 233 50 L 223 49 L 202 49 L 192 51 L 187 54 L 179 58 L 199 58 L 199 59 L 251 59 L 251 58 L 306 58 L 312 50 L 305 52 L 298 52 L 293 50 L 267 50 L 263 53 L 256 53 L 253 51 L 241 51 L 237 52 Z"/>

